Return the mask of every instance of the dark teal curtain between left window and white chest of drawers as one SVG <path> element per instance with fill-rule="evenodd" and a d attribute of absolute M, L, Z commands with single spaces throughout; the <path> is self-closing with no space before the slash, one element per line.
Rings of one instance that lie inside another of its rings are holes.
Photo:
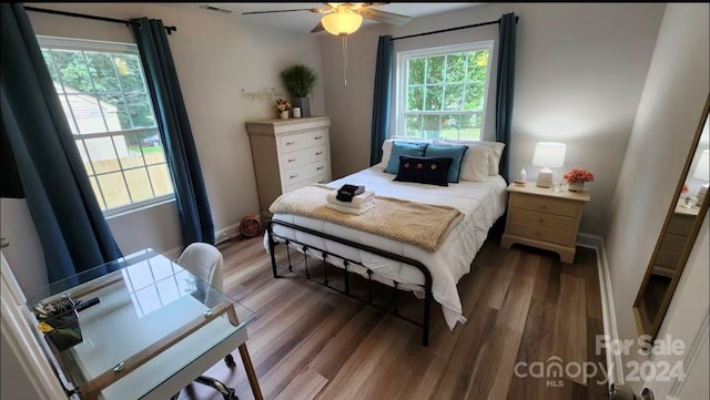
<path fill-rule="evenodd" d="M 172 173 L 183 246 L 214 244 L 210 202 L 165 27 L 148 18 L 131 21 Z"/>

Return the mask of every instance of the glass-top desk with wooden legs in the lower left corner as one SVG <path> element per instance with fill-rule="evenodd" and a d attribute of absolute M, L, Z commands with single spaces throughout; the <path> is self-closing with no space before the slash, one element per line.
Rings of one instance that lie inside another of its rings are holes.
<path fill-rule="evenodd" d="M 44 340 L 81 399 L 170 399 L 237 347 L 254 398 L 262 398 L 246 350 L 255 314 L 152 249 L 27 297 L 31 310 L 62 297 L 99 299 L 73 314 L 80 343 L 59 350 Z"/>

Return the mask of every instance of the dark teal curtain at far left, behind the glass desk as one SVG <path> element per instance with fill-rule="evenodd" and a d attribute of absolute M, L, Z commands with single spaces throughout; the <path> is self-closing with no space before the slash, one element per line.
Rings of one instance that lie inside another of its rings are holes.
<path fill-rule="evenodd" d="M 50 281 L 121 257 L 21 3 L 0 4 L 2 131 Z M 3 152 L 4 153 L 4 152 Z"/>

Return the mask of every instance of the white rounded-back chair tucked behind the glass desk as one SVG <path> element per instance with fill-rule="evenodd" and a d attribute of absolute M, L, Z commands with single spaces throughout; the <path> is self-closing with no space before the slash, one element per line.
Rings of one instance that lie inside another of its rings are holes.
<path fill-rule="evenodd" d="M 222 258 L 222 253 L 220 253 L 216 247 L 206 243 L 193 243 L 182 252 L 180 258 L 178 258 L 178 261 L 175 263 L 192 273 L 192 275 L 210 284 L 210 286 L 222 291 L 222 268 L 224 266 L 224 259 Z M 205 293 L 206 298 L 204 298 Z M 211 304 L 210 291 L 206 290 L 206 288 L 197 288 L 197 295 L 203 296 L 201 300 L 203 300 L 206 306 L 214 306 Z M 224 357 L 224 362 L 230 368 L 234 368 L 234 366 L 236 366 L 232 355 Z M 234 389 L 227 388 L 226 384 L 216 379 L 201 376 L 194 381 L 214 388 L 222 393 L 225 400 L 237 399 L 234 393 Z M 173 399 L 178 399 L 178 394 L 175 394 Z"/>

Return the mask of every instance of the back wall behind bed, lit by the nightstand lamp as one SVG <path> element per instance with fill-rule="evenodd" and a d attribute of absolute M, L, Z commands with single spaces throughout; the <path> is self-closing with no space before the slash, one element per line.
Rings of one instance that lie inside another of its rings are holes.
<path fill-rule="evenodd" d="M 538 141 L 566 142 L 567 167 L 591 170 L 592 201 L 581 232 L 601 235 L 610 199 L 653 51 L 665 4 L 488 3 L 414 19 L 404 27 L 373 25 L 349 37 L 348 86 L 343 88 L 338 38 L 321 39 L 327 113 L 333 116 L 333 174 L 343 176 L 369 161 L 377 37 L 446 29 L 514 11 L 517 25 L 511 176 L 531 166 Z M 498 25 L 395 41 L 395 51 L 495 39 Z M 356 54 L 356 55 L 354 55 Z M 495 75 L 493 76 L 495 82 Z M 495 91 L 495 84 L 490 89 Z M 495 96 L 488 98 L 485 137 L 493 140 Z M 393 125 L 394 127 L 394 125 Z M 564 168 L 556 171 L 557 176 Z"/>

